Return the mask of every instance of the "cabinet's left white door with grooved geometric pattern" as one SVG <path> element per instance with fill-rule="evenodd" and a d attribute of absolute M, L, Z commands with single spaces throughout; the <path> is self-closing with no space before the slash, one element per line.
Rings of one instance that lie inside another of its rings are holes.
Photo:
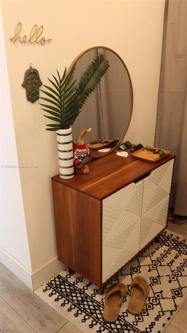
<path fill-rule="evenodd" d="M 102 282 L 139 251 L 143 180 L 103 200 Z"/>

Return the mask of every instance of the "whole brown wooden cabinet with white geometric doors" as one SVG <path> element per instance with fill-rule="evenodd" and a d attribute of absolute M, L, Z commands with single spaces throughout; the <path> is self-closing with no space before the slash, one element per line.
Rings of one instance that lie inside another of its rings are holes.
<path fill-rule="evenodd" d="M 52 177 L 58 259 L 104 292 L 105 283 L 167 227 L 175 156 L 157 163 L 115 152 L 89 174 Z"/>

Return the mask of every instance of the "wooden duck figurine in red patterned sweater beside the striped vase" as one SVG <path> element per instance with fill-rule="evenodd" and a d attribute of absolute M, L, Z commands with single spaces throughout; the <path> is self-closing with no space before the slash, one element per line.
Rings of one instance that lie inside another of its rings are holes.
<path fill-rule="evenodd" d="M 74 161 L 74 173 L 89 173 L 89 166 L 83 165 L 82 161 L 86 157 L 86 155 L 91 156 L 92 153 L 89 148 L 86 147 L 83 137 L 85 134 L 90 132 L 92 129 L 89 128 L 88 130 L 83 130 L 78 138 L 77 143 L 73 148 L 73 161 Z"/>

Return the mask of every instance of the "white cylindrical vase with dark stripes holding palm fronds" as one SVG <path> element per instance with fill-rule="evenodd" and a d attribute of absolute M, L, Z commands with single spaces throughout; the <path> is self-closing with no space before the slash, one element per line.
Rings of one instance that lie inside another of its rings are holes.
<path fill-rule="evenodd" d="M 74 177 L 72 128 L 56 131 L 60 178 Z"/>

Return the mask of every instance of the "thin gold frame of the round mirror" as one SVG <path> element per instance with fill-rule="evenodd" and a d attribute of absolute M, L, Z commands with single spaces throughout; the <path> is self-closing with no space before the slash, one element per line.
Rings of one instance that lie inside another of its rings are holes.
<path fill-rule="evenodd" d="M 110 49 L 110 48 L 108 48 L 108 47 L 105 47 L 105 46 L 94 46 L 94 47 L 91 47 L 91 48 L 89 48 L 89 49 L 86 49 L 85 51 L 83 51 L 82 53 L 80 53 L 79 56 L 74 60 L 74 62 L 73 62 L 72 65 L 70 66 L 68 73 L 72 70 L 73 66 L 78 62 L 78 60 L 79 60 L 83 55 L 85 55 L 85 54 L 86 54 L 87 52 L 89 52 L 90 50 L 94 50 L 94 49 L 105 49 L 105 50 L 108 50 L 108 51 L 112 52 L 113 54 L 115 54 L 115 55 L 121 60 L 122 64 L 124 65 L 124 68 L 125 68 L 125 70 L 126 70 L 126 72 L 127 72 L 127 74 L 128 74 L 129 83 L 130 83 L 130 87 L 131 87 L 131 94 L 132 94 L 131 112 L 130 112 L 130 116 L 129 116 L 129 121 L 128 121 L 127 127 L 126 127 L 126 129 L 125 129 L 125 131 L 124 131 L 124 133 L 123 133 L 123 135 L 122 135 L 122 138 L 119 140 L 118 144 L 117 144 L 115 147 L 113 147 L 108 153 L 99 153 L 97 150 L 92 150 L 91 158 L 101 158 L 101 157 L 104 157 L 104 156 L 110 154 L 111 152 L 113 152 L 113 151 L 116 149 L 116 147 L 118 147 L 118 146 L 120 145 L 120 143 L 122 143 L 122 141 L 123 141 L 123 139 L 124 139 L 124 136 L 125 136 L 125 134 L 126 134 L 126 132 L 127 132 L 127 130 L 128 130 L 128 127 L 129 127 L 129 124 L 130 124 L 130 121 L 131 121 L 131 117 L 132 117 L 132 109 L 133 109 L 133 88 L 132 88 L 132 82 L 131 82 L 130 74 L 129 74 L 129 71 L 128 71 L 128 69 L 127 69 L 127 67 L 126 67 L 126 65 L 125 65 L 125 63 L 124 63 L 124 61 L 122 60 L 122 58 L 121 58 L 121 57 L 120 57 L 120 56 L 119 56 L 114 50 L 112 50 L 112 49 Z M 87 67 L 87 66 L 86 66 L 86 67 Z M 86 68 L 86 67 L 85 67 L 85 68 Z M 85 103 L 85 105 L 86 105 L 86 103 Z M 82 112 L 82 111 L 81 111 L 81 112 Z M 125 111 L 124 111 L 124 112 L 125 112 Z M 81 114 L 81 113 L 80 113 L 80 114 Z M 80 117 L 80 115 L 79 115 L 78 117 Z M 88 126 L 88 127 L 91 127 L 91 126 Z M 86 129 L 86 128 L 85 128 L 85 129 Z M 83 128 L 80 129 L 80 132 L 81 132 L 82 130 L 83 130 Z M 102 138 L 100 138 L 100 139 L 102 139 Z M 73 142 L 73 145 L 75 145 L 74 142 Z M 89 156 L 88 156 L 88 157 L 89 157 Z"/>

